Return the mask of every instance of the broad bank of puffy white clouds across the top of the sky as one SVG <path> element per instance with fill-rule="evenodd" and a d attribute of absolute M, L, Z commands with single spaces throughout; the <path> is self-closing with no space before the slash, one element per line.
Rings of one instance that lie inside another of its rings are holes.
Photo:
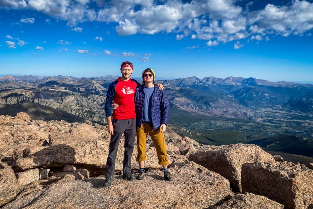
<path fill-rule="evenodd" d="M 36 10 L 65 20 L 70 27 L 87 21 L 114 23 L 118 24 L 116 33 L 121 36 L 166 32 L 174 33 L 177 40 L 190 36 L 226 43 L 256 39 L 257 35 L 262 40 L 267 40 L 269 34 L 306 35 L 313 29 L 310 2 L 267 4 L 257 11 L 238 6 L 238 0 L 0 0 L 0 6 Z M 21 22 L 33 23 L 34 18 L 23 18 Z"/>

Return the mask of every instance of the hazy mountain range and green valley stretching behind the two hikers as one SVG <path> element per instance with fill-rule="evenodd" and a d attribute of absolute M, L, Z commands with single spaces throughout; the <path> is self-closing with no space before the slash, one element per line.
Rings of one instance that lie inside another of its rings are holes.
<path fill-rule="evenodd" d="M 117 77 L 3 76 L 0 77 L 0 104 L 14 106 L 32 102 L 38 107 L 46 106 L 82 120 L 105 124 L 106 91 Z M 134 79 L 141 82 L 140 78 Z M 309 140 L 313 137 L 313 85 L 213 76 L 156 83 L 166 88 L 171 107 L 170 124 L 175 131 L 203 144 L 249 143 L 278 135 L 286 140 L 294 135 Z M 3 106 L 2 110 L 5 112 L 5 108 L 13 106 Z M 62 114 L 56 115 L 58 118 Z M 276 139 L 271 140 L 274 143 Z M 288 152 L 302 154 L 302 151 Z"/>

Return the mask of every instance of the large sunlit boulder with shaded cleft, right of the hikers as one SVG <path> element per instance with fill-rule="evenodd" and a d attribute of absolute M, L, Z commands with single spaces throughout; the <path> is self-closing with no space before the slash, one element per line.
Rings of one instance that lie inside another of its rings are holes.
<path fill-rule="evenodd" d="M 241 191 L 241 166 L 244 163 L 269 162 L 276 165 L 271 154 L 254 144 L 207 146 L 190 154 L 188 159 L 224 176 L 237 192 Z"/>

